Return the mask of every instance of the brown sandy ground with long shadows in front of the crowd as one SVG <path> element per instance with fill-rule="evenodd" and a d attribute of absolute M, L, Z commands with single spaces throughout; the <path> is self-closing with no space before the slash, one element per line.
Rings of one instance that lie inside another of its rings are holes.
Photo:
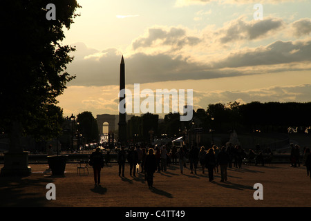
<path fill-rule="evenodd" d="M 229 169 L 228 180 L 215 182 L 207 173 L 191 174 L 189 165 L 180 174 L 177 165 L 156 173 L 154 189 L 150 190 L 144 175 L 119 177 L 117 165 L 102 169 L 102 184 L 93 184 L 93 169 L 89 174 L 77 174 L 76 164 L 67 164 L 66 173 L 55 177 L 44 173 L 47 164 L 30 164 L 28 177 L 0 177 L 1 206 L 39 207 L 310 207 L 311 180 L 305 166 L 289 164 L 266 166 L 243 165 Z M 46 199 L 46 184 L 56 186 L 56 200 Z M 263 200 L 254 200 L 254 184 L 263 184 Z"/>

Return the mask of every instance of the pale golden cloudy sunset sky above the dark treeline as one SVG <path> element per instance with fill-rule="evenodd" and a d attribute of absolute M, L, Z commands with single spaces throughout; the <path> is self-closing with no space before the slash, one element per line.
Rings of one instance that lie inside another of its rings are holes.
<path fill-rule="evenodd" d="M 77 2 L 64 116 L 118 114 L 122 55 L 126 88 L 192 89 L 194 110 L 311 102 L 311 1 L 260 1 L 262 14 L 249 0 Z"/>

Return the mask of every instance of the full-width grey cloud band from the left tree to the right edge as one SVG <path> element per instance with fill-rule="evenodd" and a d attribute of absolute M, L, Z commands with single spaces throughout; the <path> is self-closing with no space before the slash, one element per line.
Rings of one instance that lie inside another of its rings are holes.
<path fill-rule="evenodd" d="M 90 50 L 82 48 L 86 52 Z M 169 53 L 147 55 L 144 52 L 136 52 L 124 56 L 126 84 L 311 70 L 311 66 L 306 63 L 311 60 L 310 55 L 311 39 L 274 41 L 267 46 L 243 48 L 230 53 L 225 58 L 205 62 Z M 77 75 L 77 78 L 70 81 L 69 85 L 119 84 L 121 56 L 119 50 L 110 48 L 74 60 L 68 65 L 68 73 Z"/>

